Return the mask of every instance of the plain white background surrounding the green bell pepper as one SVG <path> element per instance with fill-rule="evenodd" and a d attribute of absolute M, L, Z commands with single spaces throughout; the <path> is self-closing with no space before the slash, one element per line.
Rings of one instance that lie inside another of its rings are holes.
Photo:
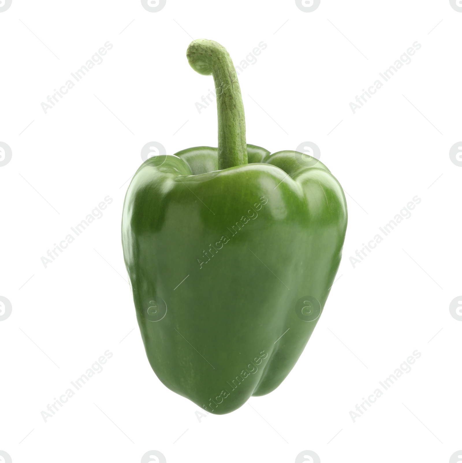
<path fill-rule="evenodd" d="M 167 0 L 158 13 L 140 1 L 12 0 L 0 13 L 0 141 L 12 149 L 0 167 L 0 296 L 12 304 L 0 322 L 0 450 L 13 463 L 140 462 L 149 450 L 168 463 L 313 461 L 296 460 L 304 450 L 322 463 L 449 462 L 462 448 L 462 322 L 449 310 L 462 294 L 462 167 L 449 156 L 462 139 L 461 23 L 449 0 L 321 0 L 312 13 L 293 0 Z M 213 81 L 187 62 L 193 38 L 223 44 L 236 65 L 267 44 L 239 75 L 247 141 L 317 144 L 349 211 L 340 278 L 295 368 L 271 394 L 205 418 L 148 364 L 120 237 L 145 144 L 217 144 L 215 102 L 195 107 Z M 45 114 L 107 41 L 103 63 Z M 353 114 L 415 41 L 412 62 Z M 107 195 L 103 217 L 44 268 Z M 412 216 L 353 268 L 415 195 Z M 106 350 L 104 370 L 45 423 Z M 412 371 L 353 422 L 414 350 Z"/>

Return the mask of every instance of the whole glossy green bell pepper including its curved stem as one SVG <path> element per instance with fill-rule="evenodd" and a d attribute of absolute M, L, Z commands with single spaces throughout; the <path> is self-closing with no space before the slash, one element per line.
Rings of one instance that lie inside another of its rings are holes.
<path fill-rule="evenodd" d="M 125 197 L 123 254 L 154 372 L 223 414 L 268 394 L 294 367 L 339 267 L 347 209 L 323 163 L 246 144 L 221 45 L 197 40 L 187 56 L 214 75 L 218 149 L 142 164 Z"/>

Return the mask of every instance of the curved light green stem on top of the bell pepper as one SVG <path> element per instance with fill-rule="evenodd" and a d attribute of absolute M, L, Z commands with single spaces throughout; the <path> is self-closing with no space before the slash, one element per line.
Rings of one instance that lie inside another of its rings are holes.
<path fill-rule="evenodd" d="M 247 164 L 246 119 L 239 82 L 226 49 L 213 40 L 194 40 L 186 51 L 191 68 L 213 75 L 218 111 L 218 169 Z"/>

